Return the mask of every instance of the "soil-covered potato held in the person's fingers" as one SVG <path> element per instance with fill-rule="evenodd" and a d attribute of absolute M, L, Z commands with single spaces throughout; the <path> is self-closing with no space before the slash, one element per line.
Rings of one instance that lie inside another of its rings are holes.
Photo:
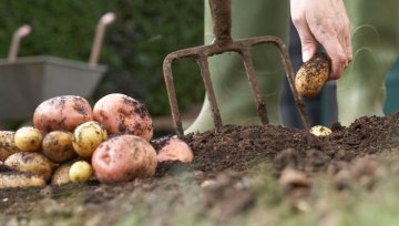
<path fill-rule="evenodd" d="M 325 85 L 331 62 L 325 53 L 318 53 L 305 62 L 295 78 L 295 88 L 304 97 L 315 97 Z"/>

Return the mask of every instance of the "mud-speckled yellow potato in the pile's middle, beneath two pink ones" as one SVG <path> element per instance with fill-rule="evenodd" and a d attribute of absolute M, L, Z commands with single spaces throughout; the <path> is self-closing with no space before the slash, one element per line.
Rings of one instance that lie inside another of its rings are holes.
<path fill-rule="evenodd" d="M 105 138 L 106 130 L 99 122 L 89 121 L 73 131 L 72 146 L 79 156 L 90 158 Z"/>

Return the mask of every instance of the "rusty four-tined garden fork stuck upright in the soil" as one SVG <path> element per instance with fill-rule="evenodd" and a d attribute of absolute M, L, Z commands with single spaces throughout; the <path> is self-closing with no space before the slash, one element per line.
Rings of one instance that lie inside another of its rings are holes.
<path fill-rule="evenodd" d="M 184 134 L 183 134 L 182 119 L 177 106 L 176 92 L 173 83 L 172 63 L 175 60 L 182 58 L 194 58 L 197 64 L 200 65 L 201 75 L 203 78 L 205 91 L 211 104 L 214 125 L 215 127 L 221 127 L 223 123 L 221 119 L 219 109 L 216 103 L 215 92 L 211 81 L 211 73 L 208 69 L 207 59 L 212 55 L 221 54 L 224 52 L 237 52 L 243 59 L 244 66 L 247 73 L 247 79 L 254 95 L 254 100 L 260 122 L 263 124 L 268 124 L 266 103 L 264 102 L 260 95 L 259 85 L 257 82 L 253 60 L 249 52 L 252 47 L 264 43 L 272 43 L 275 47 L 277 47 L 283 60 L 285 71 L 287 73 L 289 86 L 294 94 L 296 106 L 300 114 L 300 119 L 303 121 L 304 126 L 306 129 L 309 129 L 310 125 L 307 114 L 305 112 L 305 104 L 301 97 L 298 95 L 297 90 L 294 85 L 295 76 L 294 76 L 293 65 L 288 55 L 287 47 L 284 44 L 283 40 L 273 35 L 263 35 L 263 37 L 255 37 L 255 38 L 234 41 L 231 35 L 231 28 L 232 28 L 231 0 L 209 0 L 209 7 L 213 19 L 213 32 L 214 32 L 214 40 L 212 41 L 212 43 L 207 45 L 195 47 L 195 48 L 172 52 L 168 55 L 166 55 L 163 62 L 163 73 L 166 83 L 167 96 L 168 96 L 172 117 L 177 136 L 181 137 Z"/>

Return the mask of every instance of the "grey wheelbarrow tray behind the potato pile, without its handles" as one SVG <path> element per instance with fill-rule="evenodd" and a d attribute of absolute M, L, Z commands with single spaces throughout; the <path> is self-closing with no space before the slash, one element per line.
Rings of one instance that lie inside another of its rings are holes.
<path fill-rule="evenodd" d="M 55 56 L 0 60 L 0 120 L 25 120 L 44 100 L 58 95 L 89 97 L 106 70 Z"/>

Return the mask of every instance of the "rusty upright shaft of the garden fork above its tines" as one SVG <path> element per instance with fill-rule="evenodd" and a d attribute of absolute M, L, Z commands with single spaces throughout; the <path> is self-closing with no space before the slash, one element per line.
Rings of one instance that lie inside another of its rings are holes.
<path fill-rule="evenodd" d="M 231 0 L 209 0 L 213 21 L 213 43 L 224 44 L 232 42 L 232 2 Z"/>

